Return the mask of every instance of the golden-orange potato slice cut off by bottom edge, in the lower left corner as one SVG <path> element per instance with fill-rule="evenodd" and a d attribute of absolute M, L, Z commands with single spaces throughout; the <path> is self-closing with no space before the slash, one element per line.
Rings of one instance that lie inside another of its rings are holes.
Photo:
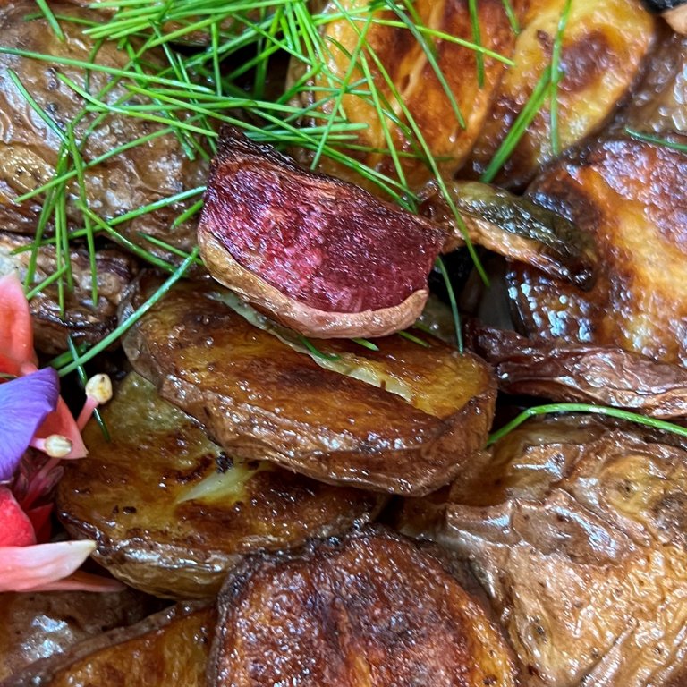
<path fill-rule="evenodd" d="M 40 660 L 2 687 L 204 687 L 216 612 L 179 604 Z"/>

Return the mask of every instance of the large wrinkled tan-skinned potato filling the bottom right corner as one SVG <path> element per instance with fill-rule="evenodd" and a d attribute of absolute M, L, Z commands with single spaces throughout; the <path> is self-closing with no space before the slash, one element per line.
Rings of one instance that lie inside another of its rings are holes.
<path fill-rule="evenodd" d="M 527 687 L 664 687 L 684 673 L 687 451 L 668 440 L 530 421 L 430 524 L 482 581 Z"/>

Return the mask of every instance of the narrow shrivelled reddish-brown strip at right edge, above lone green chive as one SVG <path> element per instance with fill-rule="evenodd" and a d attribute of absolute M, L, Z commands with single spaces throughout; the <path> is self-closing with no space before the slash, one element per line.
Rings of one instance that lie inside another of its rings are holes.
<path fill-rule="evenodd" d="M 687 369 L 680 365 L 610 346 L 527 339 L 488 327 L 473 329 L 471 338 L 507 394 L 687 417 Z"/>

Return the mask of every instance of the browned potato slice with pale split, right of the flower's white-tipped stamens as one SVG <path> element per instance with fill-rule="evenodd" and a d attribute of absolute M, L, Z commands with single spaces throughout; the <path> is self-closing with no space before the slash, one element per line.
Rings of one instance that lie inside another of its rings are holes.
<path fill-rule="evenodd" d="M 57 512 L 94 558 L 157 596 L 214 596 L 242 556 L 301 546 L 368 522 L 384 498 L 242 462 L 131 373 L 83 434 L 89 456 L 64 466 Z"/>

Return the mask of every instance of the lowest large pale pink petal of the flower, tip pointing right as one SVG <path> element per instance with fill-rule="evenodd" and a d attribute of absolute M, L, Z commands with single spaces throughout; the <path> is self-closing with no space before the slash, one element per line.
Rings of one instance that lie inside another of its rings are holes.
<path fill-rule="evenodd" d="M 71 575 L 93 552 L 95 541 L 60 541 L 33 547 L 0 547 L 0 591 L 39 591 Z"/>

